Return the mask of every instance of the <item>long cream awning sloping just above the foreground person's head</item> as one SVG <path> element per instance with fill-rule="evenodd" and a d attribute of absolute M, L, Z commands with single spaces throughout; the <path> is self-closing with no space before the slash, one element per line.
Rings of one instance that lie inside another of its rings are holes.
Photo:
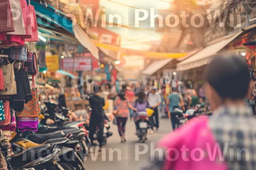
<path fill-rule="evenodd" d="M 237 36 L 239 36 L 243 31 L 239 31 L 232 36 L 228 36 L 228 38 L 221 40 L 219 42 L 215 42 L 213 44 L 208 45 L 206 48 L 202 49 L 198 53 L 192 55 L 188 59 L 177 64 L 177 71 L 185 71 L 191 68 L 200 67 L 202 65 L 206 65 L 209 63 L 211 57 L 218 53 L 222 48 L 224 48 L 228 43 L 234 40 Z"/>

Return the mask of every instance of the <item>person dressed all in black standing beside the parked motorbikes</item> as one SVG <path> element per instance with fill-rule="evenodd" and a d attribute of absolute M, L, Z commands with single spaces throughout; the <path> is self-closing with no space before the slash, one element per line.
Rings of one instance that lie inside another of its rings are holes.
<path fill-rule="evenodd" d="M 105 106 L 105 100 L 104 98 L 99 96 L 99 93 L 101 92 L 101 88 L 98 85 L 94 85 L 93 87 L 94 94 L 90 96 L 89 103 L 91 107 L 91 115 L 90 115 L 90 125 L 89 125 L 89 137 L 90 140 L 94 140 L 94 133 L 96 131 L 96 128 L 99 128 L 99 151 L 102 151 L 102 142 L 103 142 L 103 130 L 104 130 L 104 110 L 103 106 Z"/>

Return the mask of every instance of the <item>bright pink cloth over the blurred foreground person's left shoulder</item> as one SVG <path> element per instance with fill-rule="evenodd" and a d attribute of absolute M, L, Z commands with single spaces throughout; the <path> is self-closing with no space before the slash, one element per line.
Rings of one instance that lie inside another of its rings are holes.
<path fill-rule="evenodd" d="M 177 158 L 175 161 L 170 161 L 172 159 L 166 161 L 163 170 L 227 170 L 226 162 L 218 157 L 218 151 L 220 155 L 222 154 L 221 150 L 218 150 L 217 154 L 213 154 L 214 147 L 218 146 L 218 143 L 207 122 L 207 117 L 192 119 L 187 125 L 180 127 L 160 141 L 159 147 L 172 148 L 172 151 L 166 155 L 166 159 L 168 159 L 167 157 Z M 180 150 L 184 145 L 188 149 L 185 157 L 188 160 L 184 159 L 182 154 L 184 152 Z M 204 154 L 199 154 L 200 152 L 196 151 L 195 157 L 192 156 L 192 150 L 195 148 L 196 150 L 202 150 Z M 177 150 L 178 154 L 175 155 L 173 150 Z M 202 159 L 200 161 L 196 160 L 200 158 L 200 155 L 203 156 Z"/>

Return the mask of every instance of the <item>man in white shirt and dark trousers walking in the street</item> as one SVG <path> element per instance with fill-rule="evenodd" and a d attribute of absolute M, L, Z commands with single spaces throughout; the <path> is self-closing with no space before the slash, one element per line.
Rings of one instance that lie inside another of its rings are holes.
<path fill-rule="evenodd" d="M 159 116 L 158 116 L 158 106 L 161 104 L 162 99 L 160 94 L 156 93 L 157 88 L 152 87 L 151 93 L 148 94 L 148 104 L 150 108 L 154 110 L 153 115 L 149 118 L 151 122 L 151 129 L 154 130 L 154 127 L 159 128 Z"/>

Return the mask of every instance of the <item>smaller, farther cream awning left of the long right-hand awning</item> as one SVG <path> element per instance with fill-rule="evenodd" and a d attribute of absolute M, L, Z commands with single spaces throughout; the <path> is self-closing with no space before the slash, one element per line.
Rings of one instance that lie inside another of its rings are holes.
<path fill-rule="evenodd" d="M 148 65 L 148 67 L 144 71 L 142 71 L 142 74 L 151 76 L 152 74 L 157 72 L 160 68 L 168 64 L 170 61 L 172 61 L 172 59 L 161 59 L 158 61 L 154 61 L 150 65 Z"/>

